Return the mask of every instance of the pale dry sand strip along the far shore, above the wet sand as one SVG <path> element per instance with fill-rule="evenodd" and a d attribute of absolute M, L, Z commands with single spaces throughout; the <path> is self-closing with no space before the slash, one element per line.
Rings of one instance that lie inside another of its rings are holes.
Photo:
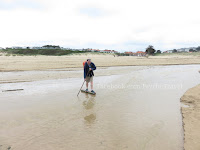
<path fill-rule="evenodd" d="M 98 67 L 110 66 L 149 66 L 149 65 L 180 65 L 200 64 L 198 56 L 153 56 L 132 57 L 113 55 L 70 55 L 70 56 L 0 56 L 0 71 L 26 71 L 62 68 L 82 68 L 87 58 Z"/>

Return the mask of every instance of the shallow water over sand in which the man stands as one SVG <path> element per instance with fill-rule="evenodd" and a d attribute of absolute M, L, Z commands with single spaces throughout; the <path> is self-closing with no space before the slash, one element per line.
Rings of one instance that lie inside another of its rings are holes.
<path fill-rule="evenodd" d="M 24 91 L 0 93 L 0 145 L 15 150 L 181 150 L 180 97 L 200 82 L 199 68 L 102 69 L 94 78 L 96 96 L 76 96 L 80 78 L 1 84 L 0 90 Z"/>

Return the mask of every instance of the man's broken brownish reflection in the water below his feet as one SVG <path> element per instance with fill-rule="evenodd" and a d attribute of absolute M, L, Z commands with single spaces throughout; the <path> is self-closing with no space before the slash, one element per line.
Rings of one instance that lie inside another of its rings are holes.
<path fill-rule="evenodd" d="M 87 125 L 93 124 L 96 120 L 95 103 L 95 95 L 86 94 L 83 101 L 83 108 L 84 120 Z"/>

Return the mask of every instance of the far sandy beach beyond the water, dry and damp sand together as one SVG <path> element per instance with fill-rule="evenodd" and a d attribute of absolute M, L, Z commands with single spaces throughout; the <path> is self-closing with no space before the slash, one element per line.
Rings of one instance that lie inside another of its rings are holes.
<path fill-rule="evenodd" d="M 70 55 L 70 56 L 0 56 L 0 83 L 30 82 L 49 79 L 65 79 L 81 77 L 77 70 L 82 69 L 82 62 L 92 58 L 98 68 L 112 66 L 157 66 L 157 65 L 183 65 L 200 64 L 198 56 L 150 56 L 146 57 L 114 57 L 108 54 L 99 55 Z M 34 73 L 32 71 L 39 70 Z M 52 72 L 48 72 L 52 70 Z M 12 72 L 18 72 L 12 74 Z M 23 73 L 21 71 L 27 71 Z M 30 72 L 28 72 L 30 71 Z M 10 72 L 10 73 L 9 73 Z M 116 71 L 117 73 L 118 71 Z M 104 75 L 98 72 L 97 75 Z"/>

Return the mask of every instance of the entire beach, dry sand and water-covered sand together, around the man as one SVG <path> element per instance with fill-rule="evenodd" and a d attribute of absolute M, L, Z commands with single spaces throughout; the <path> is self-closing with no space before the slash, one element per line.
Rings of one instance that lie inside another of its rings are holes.
<path fill-rule="evenodd" d="M 99 94 L 77 99 L 87 58 Z M 0 56 L 0 149 L 182 150 L 185 140 L 198 150 L 198 64 L 179 55 Z M 2 92 L 12 89 L 23 91 Z"/>

